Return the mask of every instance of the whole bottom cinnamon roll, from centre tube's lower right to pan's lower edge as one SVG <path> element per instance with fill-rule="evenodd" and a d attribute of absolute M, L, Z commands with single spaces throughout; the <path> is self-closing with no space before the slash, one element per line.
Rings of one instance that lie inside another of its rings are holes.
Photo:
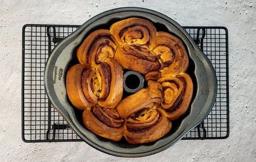
<path fill-rule="evenodd" d="M 124 137 L 131 144 L 152 142 L 169 132 L 172 124 L 157 110 L 161 104 L 162 86 L 148 81 L 148 88 L 125 98 L 117 112 L 127 118 Z"/>

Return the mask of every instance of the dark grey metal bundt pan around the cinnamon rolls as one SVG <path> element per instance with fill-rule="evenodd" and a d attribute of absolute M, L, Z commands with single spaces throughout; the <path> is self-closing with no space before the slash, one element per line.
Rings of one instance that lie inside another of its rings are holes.
<path fill-rule="evenodd" d="M 194 84 L 194 94 L 187 114 L 178 121 L 172 122 L 172 130 L 166 136 L 155 142 L 139 145 L 129 144 L 124 139 L 113 142 L 89 131 L 81 121 L 82 112 L 71 105 L 65 89 L 67 69 L 77 64 L 75 51 L 83 39 L 94 30 L 109 29 L 111 24 L 129 17 L 148 19 L 153 22 L 157 31 L 171 33 L 183 41 L 189 56 L 187 73 Z M 142 8 L 119 8 L 100 13 L 63 39 L 48 58 L 44 84 L 52 105 L 84 142 L 97 150 L 120 157 L 149 156 L 174 145 L 205 119 L 216 97 L 216 76 L 212 64 L 189 34 L 173 19 L 159 12 Z"/>

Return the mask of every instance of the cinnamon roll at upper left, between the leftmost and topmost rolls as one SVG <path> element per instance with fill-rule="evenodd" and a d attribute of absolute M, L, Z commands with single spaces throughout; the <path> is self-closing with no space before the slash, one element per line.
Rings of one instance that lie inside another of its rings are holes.
<path fill-rule="evenodd" d="M 109 30 L 100 29 L 91 33 L 77 49 L 77 59 L 83 64 L 96 67 L 106 58 L 114 58 L 117 41 Z"/>

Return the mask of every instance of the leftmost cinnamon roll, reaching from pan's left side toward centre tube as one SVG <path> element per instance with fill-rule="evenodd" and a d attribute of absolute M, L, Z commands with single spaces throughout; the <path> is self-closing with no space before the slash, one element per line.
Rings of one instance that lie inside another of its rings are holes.
<path fill-rule="evenodd" d="M 123 71 L 112 58 L 83 71 L 82 91 L 87 101 L 104 108 L 115 108 L 123 95 Z"/>

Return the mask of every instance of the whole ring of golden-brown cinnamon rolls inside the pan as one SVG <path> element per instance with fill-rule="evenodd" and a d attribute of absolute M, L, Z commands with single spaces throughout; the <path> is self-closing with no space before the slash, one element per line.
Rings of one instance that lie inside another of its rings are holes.
<path fill-rule="evenodd" d="M 193 82 L 185 72 L 186 49 L 149 20 L 128 18 L 110 30 L 96 30 L 76 55 L 80 64 L 68 69 L 67 94 L 83 110 L 86 128 L 97 135 L 114 141 L 124 137 L 130 144 L 153 142 L 187 112 Z M 123 69 L 145 75 L 148 86 L 121 101 Z"/>

